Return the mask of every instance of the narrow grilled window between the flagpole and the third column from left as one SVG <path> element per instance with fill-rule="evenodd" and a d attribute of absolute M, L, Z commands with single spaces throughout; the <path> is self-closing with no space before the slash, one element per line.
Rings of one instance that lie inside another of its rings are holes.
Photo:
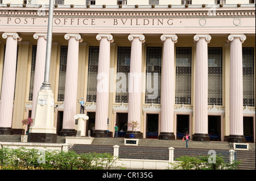
<path fill-rule="evenodd" d="M 65 79 L 67 69 L 68 46 L 60 47 L 60 73 L 59 73 L 59 91 L 58 101 L 62 102 L 65 98 Z"/>

